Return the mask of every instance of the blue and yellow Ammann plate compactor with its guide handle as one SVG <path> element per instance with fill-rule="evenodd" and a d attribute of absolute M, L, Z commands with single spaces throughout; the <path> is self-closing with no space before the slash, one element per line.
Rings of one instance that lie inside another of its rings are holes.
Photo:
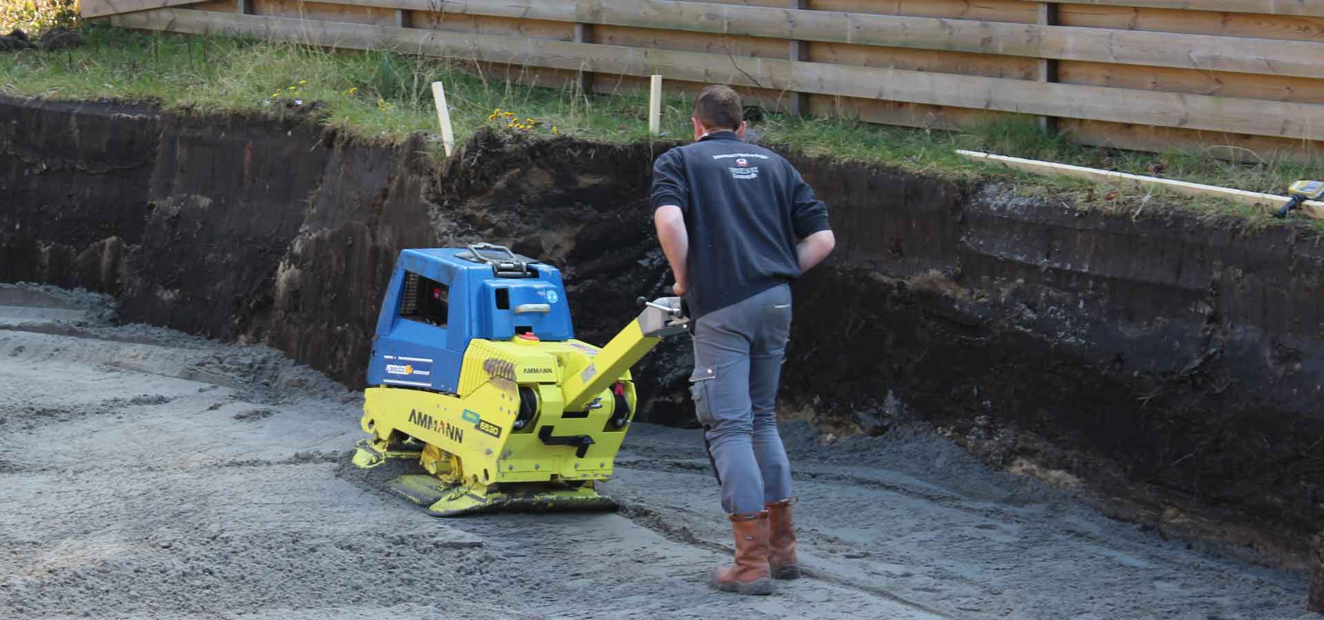
<path fill-rule="evenodd" d="M 436 516 L 610 509 L 634 416 L 630 366 L 686 330 L 678 297 L 642 300 L 606 346 L 575 340 L 560 272 L 502 246 L 404 250 L 377 317 L 354 463 Z"/>

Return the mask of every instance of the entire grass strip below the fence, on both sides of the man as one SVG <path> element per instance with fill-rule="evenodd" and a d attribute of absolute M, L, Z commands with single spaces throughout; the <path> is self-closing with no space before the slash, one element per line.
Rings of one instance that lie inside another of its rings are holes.
<path fill-rule="evenodd" d="M 224 36 L 140 33 L 85 26 L 86 45 L 62 52 L 0 54 L 0 93 L 50 99 L 154 100 L 172 110 L 253 112 L 316 102 L 324 123 L 347 134 L 395 140 L 436 131 L 430 83 L 446 86 L 455 137 L 479 127 L 585 140 L 646 140 L 647 102 L 621 91 L 585 95 L 535 67 L 493 71 L 457 59 L 391 52 L 346 53 L 295 44 Z M 500 111 L 494 115 L 495 111 Z M 690 102 L 663 106 L 667 139 L 687 139 Z M 515 114 L 514 118 L 507 114 Z M 1266 193 L 1282 193 L 1312 167 L 1287 159 L 1250 164 L 1206 153 L 1139 153 L 1072 144 L 1041 132 L 1033 118 L 967 127 L 960 132 L 883 127 L 843 118 L 797 119 L 768 114 L 753 123 L 759 140 L 849 161 L 875 163 L 957 180 L 1006 178 L 1027 196 L 1071 198 L 1082 206 L 1143 210 L 1147 204 L 1189 205 L 1209 214 L 1264 219 L 1256 209 L 1218 200 L 1140 194 L 1067 178 L 1029 176 L 969 163 L 957 148 L 1164 176 Z M 440 151 L 440 145 L 437 147 Z M 1260 222 L 1267 223 L 1267 222 Z"/>

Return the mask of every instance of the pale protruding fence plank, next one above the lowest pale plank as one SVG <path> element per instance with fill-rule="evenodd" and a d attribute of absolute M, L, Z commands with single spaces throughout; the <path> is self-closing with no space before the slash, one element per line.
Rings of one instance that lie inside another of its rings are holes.
<path fill-rule="evenodd" d="M 434 7 L 436 0 L 355 0 L 355 4 L 425 11 Z M 1311 41 L 735 7 L 687 0 L 453 0 L 442 8 L 445 13 L 458 15 L 1324 78 L 1324 45 Z"/>

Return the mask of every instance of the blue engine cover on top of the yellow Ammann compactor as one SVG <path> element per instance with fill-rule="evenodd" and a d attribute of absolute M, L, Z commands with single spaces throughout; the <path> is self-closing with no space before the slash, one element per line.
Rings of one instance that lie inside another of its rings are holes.
<path fill-rule="evenodd" d="M 510 340 L 518 332 L 553 341 L 575 337 L 565 287 L 555 267 L 530 262 L 528 276 L 511 278 L 462 255 L 471 252 L 400 252 L 377 316 L 369 386 L 455 393 L 471 338 Z"/>

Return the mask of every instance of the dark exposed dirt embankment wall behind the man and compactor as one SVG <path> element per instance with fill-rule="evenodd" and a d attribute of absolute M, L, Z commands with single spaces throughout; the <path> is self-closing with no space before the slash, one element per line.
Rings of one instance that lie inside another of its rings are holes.
<path fill-rule="evenodd" d="M 663 147 L 482 134 L 444 169 L 301 118 L 0 99 L 0 280 L 267 342 L 348 385 L 402 247 L 510 243 L 565 271 L 604 341 L 669 282 L 646 193 Z M 932 422 L 986 460 L 1177 535 L 1299 566 L 1324 523 L 1324 250 L 1303 229 L 1107 214 L 798 159 L 839 250 L 796 286 L 790 415 Z M 683 340 L 638 369 L 683 423 Z"/>

